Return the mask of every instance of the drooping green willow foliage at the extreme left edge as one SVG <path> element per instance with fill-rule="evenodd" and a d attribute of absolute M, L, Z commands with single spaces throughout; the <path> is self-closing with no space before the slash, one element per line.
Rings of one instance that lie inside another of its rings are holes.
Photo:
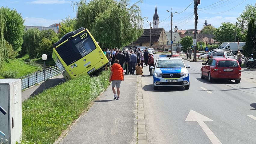
<path fill-rule="evenodd" d="M 3 18 L 2 8 L 0 8 L 0 70 L 3 67 L 6 58 L 6 47 L 4 32 L 6 30 L 5 19 Z"/>

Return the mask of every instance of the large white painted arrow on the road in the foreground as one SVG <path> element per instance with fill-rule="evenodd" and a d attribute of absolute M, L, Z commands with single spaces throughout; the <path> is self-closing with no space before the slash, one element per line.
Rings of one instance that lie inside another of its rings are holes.
<path fill-rule="evenodd" d="M 200 127 L 204 130 L 205 134 L 210 139 L 211 143 L 213 144 L 221 144 L 220 140 L 215 136 L 215 134 L 209 129 L 209 127 L 203 121 L 213 121 L 206 116 L 199 114 L 198 112 L 193 111 L 190 109 L 189 114 L 185 121 L 197 121 Z"/>

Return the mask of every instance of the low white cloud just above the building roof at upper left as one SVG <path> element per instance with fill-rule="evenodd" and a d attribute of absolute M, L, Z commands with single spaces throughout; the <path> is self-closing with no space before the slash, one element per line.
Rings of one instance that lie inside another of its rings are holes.
<path fill-rule="evenodd" d="M 39 17 L 25 17 L 24 25 L 26 26 L 50 26 L 54 23 L 59 23 L 61 20 L 47 20 Z"/>

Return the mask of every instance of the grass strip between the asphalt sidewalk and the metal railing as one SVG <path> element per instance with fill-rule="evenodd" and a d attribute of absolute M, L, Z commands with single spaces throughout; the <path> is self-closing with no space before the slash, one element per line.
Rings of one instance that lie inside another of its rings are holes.
<path fill-rule="evenodd" d="M 23 141 L 53 143 L 108 87 L 109 73 L 80 76 L 23 102 Z"/>

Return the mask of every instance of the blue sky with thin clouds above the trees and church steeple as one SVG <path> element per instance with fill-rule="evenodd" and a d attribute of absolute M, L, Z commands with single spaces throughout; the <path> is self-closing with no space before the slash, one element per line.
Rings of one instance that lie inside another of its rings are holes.
<path fill-rule="evenodd" d="M 25 20 L 24 25 L 49 26 L 54 23 L 60 23 L 65 17 L 76 17 L 76 10 L 73 10 L 72 2 L 78 1 L 0 0 L 0 6 L 16 9 Z M 131 0 L 130 5 L 137 1 Z M 222 22 L 236 23 L 237 17 L 248 4 L 255 5 L 255 0 L 201 0 L 201 4 L 198 5 L 199 19 L 197 29 L 203 28 L 205 19 L 208 24 L 216 28 L 221 26 Z M 171 11 L 172 9 L 173 13 L 177 12 L 177 14 L 173 15 L 173 28 L 177 25 L 178 29 L 194 29 L 193 0 L 143 0 L 143 3 L 138 5 L 144 18 L 143 28 L 149 28 L 147 20 L 153 22 L 155 7 L 157 7 L 160 22 L 159 28 L 164 28 L 165 31 L 171 29 L 171 17 L 169 17 L 171 14 L 166 10 Z"/>

